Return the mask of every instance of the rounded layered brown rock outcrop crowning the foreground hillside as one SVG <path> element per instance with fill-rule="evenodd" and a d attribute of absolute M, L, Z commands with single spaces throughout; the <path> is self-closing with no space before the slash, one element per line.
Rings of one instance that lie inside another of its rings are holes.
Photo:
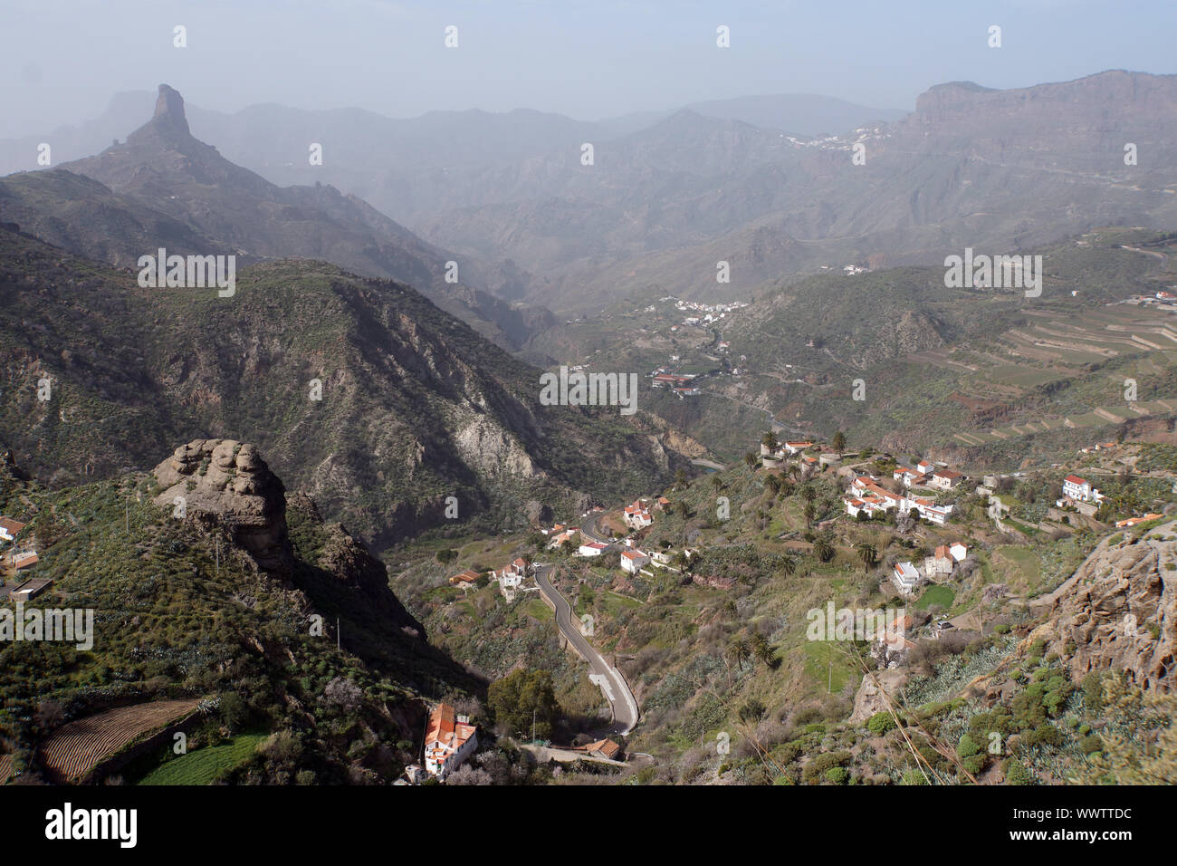
<path fill-rule="evenodd" d="M 195 439 L 154 469 L 164 491 L 155 503 L 177 508 L 207 530 L 222 529 L 267 571 L 288 577 L 293 553 L 286 489 L 257 449 L 234 439 Z"/>

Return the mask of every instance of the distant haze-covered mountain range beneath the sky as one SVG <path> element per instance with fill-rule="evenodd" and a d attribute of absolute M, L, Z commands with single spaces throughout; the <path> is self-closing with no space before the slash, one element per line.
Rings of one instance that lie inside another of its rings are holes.
<path fill-rule="evenodd" d="M 139 103 L 119 97 L 56 152 L 105 137 Z M 1113 71 L 1011 91 L 938 85 L 900 118 L 812 97 L 600 123 L 521 110 L 191 114 L 199 135 L 270 180 L 333 184 L 410 226 L 423 249 L 453 251 L 477 287 L 572 312 L 667 292 L 747 297 L 822 264 L 930 264 L 967 245 L 1012 252 L 1098 225 L 1164 225 L 1177 207 L 1175 105 L 1177 77 Z M 321 166 L 308 164 L 312 143 Z M 34 153 L 32 139 L 5 143 L 0 164 Z M 731 283 L 717 284 L 718 260 Z M 487 303 L 467 305 L 516 345 L 544 324 L 504 323 Z"/>

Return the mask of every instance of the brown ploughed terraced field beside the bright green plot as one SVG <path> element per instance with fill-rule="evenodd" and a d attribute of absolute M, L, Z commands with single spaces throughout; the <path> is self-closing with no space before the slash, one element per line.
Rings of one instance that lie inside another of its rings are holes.
<path fill-rule="evenodd" d="M 72 721 L 41 743 L 41 763 L 51 776 L 65 782 L 75 781 L 140 736 L 195 712 L 199 702 L 194 698 L 151 701 Z"/>

